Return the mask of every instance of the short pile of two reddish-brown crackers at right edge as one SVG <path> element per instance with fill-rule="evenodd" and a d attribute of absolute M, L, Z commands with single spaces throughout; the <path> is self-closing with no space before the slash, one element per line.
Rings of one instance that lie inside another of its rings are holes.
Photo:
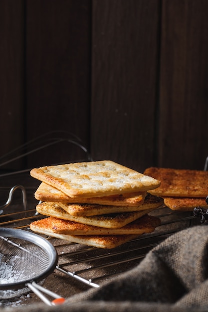
<path fill-rule="evenodd" d="M 150 167 L 144 171 L 161 182 L 149 192 L 164 199 L 172 210 L 192 211 L 195 207 L 207 208 L 208 171 Z"/>

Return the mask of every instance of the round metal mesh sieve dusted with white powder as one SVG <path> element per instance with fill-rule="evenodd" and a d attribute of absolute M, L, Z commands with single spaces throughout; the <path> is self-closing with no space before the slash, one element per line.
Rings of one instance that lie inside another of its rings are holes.
<path fill-rule="evenodd" d="M 53 272 L 57 259 L 54 246 L 41 236 L 24 230 L 0 228 L 0 299 L 17 297 L 29 289 L 38 295 L 39 291 L 34 287 L 40 286 L 36 282 L 43 281 Z M 53 297 L 60 298 L 56 294 Z M 41 299 L 48 304 L 47 299 Z"/>

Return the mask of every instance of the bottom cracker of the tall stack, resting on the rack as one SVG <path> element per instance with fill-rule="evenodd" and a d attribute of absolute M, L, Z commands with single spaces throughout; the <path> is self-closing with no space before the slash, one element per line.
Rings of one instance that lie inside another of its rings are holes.
<path fill-rule="evenodd" d="M 43 219 L 45 220 L 45 219 Z M 33 232 L 48 235 L 51 237 L 63 239 L 65 241 L 83 244 L 87 246 L 104 248 L 104 249 L 112 249 L 117 246 L 120 246 L 132 239 L 137 238 L 139 235 L 64 235 L 54 233 L 50 228 L 50 224 L 46 224 L 45 222 L 41 222 L 42 220 L 36 221 L 36 223 L 32 222 L 30 224 L 30 229 Z"/>

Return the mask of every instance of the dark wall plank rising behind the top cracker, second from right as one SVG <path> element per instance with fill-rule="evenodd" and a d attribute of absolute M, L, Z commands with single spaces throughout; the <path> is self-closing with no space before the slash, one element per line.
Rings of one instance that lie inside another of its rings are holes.
<path fill-rule="evenodd" d="M 92 156 L 143 170 L 154 162 L 159 1 L 92 3 Z"/>

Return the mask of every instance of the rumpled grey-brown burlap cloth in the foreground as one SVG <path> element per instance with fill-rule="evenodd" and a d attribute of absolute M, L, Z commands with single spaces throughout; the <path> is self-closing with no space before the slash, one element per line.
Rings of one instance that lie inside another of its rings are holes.
<path fill-rule="evenodd" d="M 13 311 L 12 308 L 2 310 Z M 67 299 L 62 306 L 38 304 L 20 310 L 208 311 L 208 226 L 194 226 L 170 236 L 152 249 L 134 269 L 99 289 L 90 289 Z"/>

